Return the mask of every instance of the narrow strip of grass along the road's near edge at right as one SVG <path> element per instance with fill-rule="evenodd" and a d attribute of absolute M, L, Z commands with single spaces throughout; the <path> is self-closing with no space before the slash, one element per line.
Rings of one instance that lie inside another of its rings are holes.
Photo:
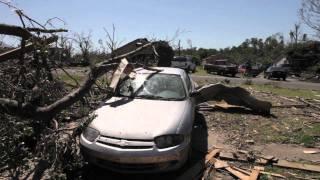
<path fill-rule="evenodd" d="M 320 91 L 313 91 L 313 90 L 304 90 L 304 89 L 288 89 L 288 88 L 281 88 L 274 85 L 242 85 L 244 87 L 251 87 L 257 91 L 262 92 L 271 92 L 280 96 L 286 97 L 301 97 L 306 99 L 320 99 Z"/>

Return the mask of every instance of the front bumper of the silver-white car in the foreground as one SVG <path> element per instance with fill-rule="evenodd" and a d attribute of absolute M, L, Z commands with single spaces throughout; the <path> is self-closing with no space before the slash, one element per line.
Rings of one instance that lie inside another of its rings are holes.
<path fill-rule="evenodd" d="M 188 159 L 190 142 L 158 149 L 116 147 L 101 141 L 89 142 L 83 135 L 80 145 L 85 159 L 97 166 L 118 172 L 165 172 L 179 169 Z"/>

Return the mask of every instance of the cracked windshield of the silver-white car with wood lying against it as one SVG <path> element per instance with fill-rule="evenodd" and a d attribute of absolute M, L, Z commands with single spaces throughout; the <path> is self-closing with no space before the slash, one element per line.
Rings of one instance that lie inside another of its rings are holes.
<path fill-rule="evenodd" d="M 182 100 L 186 91 L 180 76 L 173 74 L 137 74 L 120 83 L 118 95 L 133 98 Z"/>

